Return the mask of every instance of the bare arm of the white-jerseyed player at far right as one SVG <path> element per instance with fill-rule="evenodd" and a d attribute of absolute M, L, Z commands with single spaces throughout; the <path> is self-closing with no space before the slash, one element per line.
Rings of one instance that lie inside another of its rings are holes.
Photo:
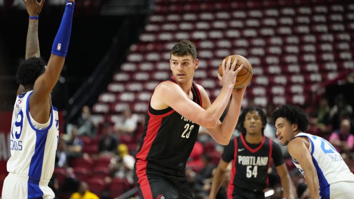
<path fill-rule="evenodd" d="M 290 155 L 300 164 L 305 173 L 305 180 L 308 185 L 311 199 L 320 199 L 319 179 L 316 168 L 312 162 L 312 156 L 308 150 L 308 144 L 306 138 L 298 137 L 289 142 L 288 150 Z"/>

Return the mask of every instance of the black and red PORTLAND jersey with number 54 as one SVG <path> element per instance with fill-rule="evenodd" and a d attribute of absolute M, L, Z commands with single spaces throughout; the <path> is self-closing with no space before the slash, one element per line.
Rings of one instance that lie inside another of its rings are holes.
<path fill-rule="evenodd" d="M 268 186 L 268 168 L 273 158 L 274 165 L 284 163 L 280 147 L 263 136 L 259 144 L 247 143 L 241 134 L 225 146 L 222 159 L 232 162 L 228 196 L 237 190 L 262 192 Z"/>

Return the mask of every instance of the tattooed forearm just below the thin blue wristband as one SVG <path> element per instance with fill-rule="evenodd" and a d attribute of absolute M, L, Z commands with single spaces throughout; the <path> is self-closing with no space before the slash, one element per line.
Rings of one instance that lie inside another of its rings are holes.
<path fill-rule="evenodd" d="M 40 57 L 38 40 L 38 19 L 29 19 L 26 38 L 25 59 L 29 57 Z"/>

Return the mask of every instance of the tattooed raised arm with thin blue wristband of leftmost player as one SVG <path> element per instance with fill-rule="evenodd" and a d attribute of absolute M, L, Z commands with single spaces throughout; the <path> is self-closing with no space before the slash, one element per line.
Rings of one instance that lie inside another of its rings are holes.
<path fill-rule="evenodd" d="M 29 14 L 29 26 L 26 38 L 25 59 L 29 57 L 40 57 L 39 41 L 38 41 L 38 16 L 42 10 L 45 0 L 38 2 L 37 0 L 24 0 L 26 10 Z M 25 91 L 23 85 L 19 85 L 17 95 Z"/>

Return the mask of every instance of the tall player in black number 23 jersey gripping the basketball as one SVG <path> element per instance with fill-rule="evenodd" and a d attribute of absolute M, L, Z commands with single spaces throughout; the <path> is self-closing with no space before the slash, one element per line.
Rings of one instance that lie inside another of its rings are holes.
<path fill-rule="evenodd" d="M 205 127 L 216 142 L 223 145 L 230 142 L 242 97 L 251 79 L 245 81 L 243 87 L 235 88 L 237 75 L 246 64 L 232 57 L 222 61 L 222 88 L 211 103 L 203 86 L 193 82 L 199 64 L 194 44 L 182 40 L 172 48 L 172 77 L 158 84 L 151 95 L 142 142 L 136 154 L 134 181 L 142 198 L 193 198 L 185 166 L 199 126 Z M 221 122 L 219 118 L 230 98 L 229 111 Z"/>

